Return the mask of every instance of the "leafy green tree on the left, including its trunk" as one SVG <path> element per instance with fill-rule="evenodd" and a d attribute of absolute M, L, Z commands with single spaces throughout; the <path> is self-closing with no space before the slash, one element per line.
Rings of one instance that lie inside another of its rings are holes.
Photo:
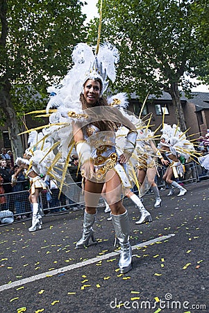
<path fill-rule="evenodd" d="M 86 33 L 79 0 L 0 0 L 1 121 L 22 155 L 19 117 L 46 104 L 47 86 L 67 72 Z M 45 99 L 45 100 L 44 100 Z"/>

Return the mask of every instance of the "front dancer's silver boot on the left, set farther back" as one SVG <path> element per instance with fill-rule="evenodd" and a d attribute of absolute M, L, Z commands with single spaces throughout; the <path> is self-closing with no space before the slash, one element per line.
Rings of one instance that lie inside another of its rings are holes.
<path fill-rule="evenodd" d="M 92 228 L 95 220 L 96 214 L 89 214 L 84 211 L 84 218 L 83 218 L 83 234 L 81 239 L 76 243 L 76 249 L 82 249 L 88 246 L 90 238 L 92 239 L 93 243 L 97 243 L 96 239 L 94 238 L 94 230 Z"/>

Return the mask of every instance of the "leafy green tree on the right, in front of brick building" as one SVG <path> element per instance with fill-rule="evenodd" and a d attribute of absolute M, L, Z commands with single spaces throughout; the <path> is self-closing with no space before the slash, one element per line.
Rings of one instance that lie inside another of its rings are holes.
<path fill-rule="evenodd" d="M 103 6 L 101 42 L 110 41 L 120 51 L 117 89 L 135 92 L 141 101 L 148 92 L 169 93 L 182 130 L 179 90 L 189 93 L 192 83 L 185 74 L 200 76 L 206 66 L 206 17 L 208 0 L 106 0 Z"/>

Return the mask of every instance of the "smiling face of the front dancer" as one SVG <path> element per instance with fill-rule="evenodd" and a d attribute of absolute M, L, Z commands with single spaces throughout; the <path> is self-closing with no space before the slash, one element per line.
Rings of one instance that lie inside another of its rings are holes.
<path fill-rule="evenodd" d="M 83 95 L 87 104 L 95 104 L 99 99 L 101 85 L 99 81 L 88 79 L 83 87 Z"/>

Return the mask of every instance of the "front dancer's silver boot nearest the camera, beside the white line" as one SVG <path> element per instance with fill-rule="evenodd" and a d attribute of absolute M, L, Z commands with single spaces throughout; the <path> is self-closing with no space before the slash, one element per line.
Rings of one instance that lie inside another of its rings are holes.
<path fill-rule="evenodd" d="M 132 262 L 132 249 L 131 244 L 129 243 L 129 220 L 128 212 L 125 211 L 124 214 L 113 215 L 112 214 L 112 223 L 115 229 L 115 236 L 119 240 L 121 246 L 121 252 L 119 257 L 119 270 L 120 273 L 127 273 L 131 270 Z"/>

